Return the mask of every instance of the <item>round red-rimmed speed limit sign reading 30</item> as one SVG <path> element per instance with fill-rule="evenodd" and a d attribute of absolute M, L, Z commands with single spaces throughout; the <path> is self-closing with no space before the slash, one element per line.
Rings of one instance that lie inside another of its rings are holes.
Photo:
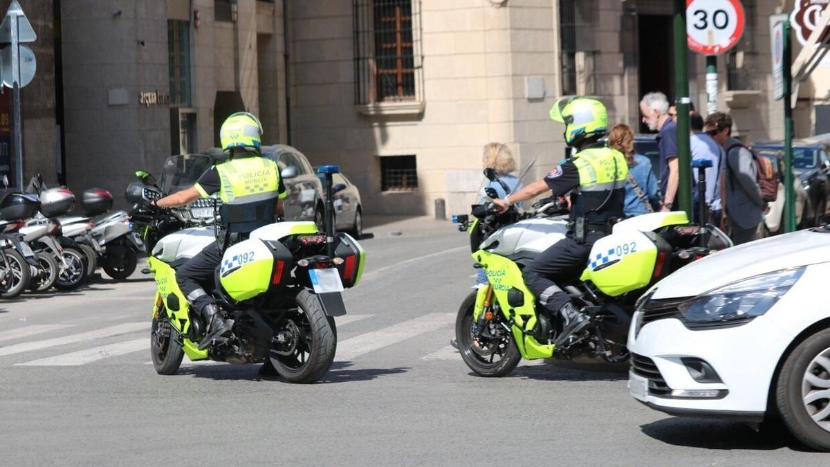
<path fill-rule="evenodd" d="M 744 24 L 740 0 L 686 0 L 686 34 L 695 52 L 718 55 L 728 51 L 740 41 Z"/>

